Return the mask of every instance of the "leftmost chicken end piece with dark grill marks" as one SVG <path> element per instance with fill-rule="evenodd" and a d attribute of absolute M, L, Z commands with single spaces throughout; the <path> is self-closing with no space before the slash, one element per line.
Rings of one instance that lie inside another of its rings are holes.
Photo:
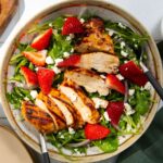
<path fill-rule="evenodd" d="M 24 101 L 22 103 L 22 115 L 41 133 L 50 134 L 55 131 L 53 118 L 35 104 Z"/>

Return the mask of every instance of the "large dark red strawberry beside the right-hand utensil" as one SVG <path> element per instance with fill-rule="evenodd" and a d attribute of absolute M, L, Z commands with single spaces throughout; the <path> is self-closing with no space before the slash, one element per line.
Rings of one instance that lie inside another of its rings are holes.
<path fill-rule="evenodd" d="M 145 86 L 148 82 L 143 72 L 133 62 L 129 61 L 120 66 L 120 73 L 131 83 L 138 86 Z"/>

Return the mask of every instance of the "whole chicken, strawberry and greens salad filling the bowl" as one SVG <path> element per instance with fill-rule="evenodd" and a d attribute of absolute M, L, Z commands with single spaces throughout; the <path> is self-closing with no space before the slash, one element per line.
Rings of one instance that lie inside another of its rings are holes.
<path fill-rule="evenodd" d="M 114 152 L 140 134 L 152 102 L 139 66 L 147 40 L 92 15 L 37 23 L 15 42 L 7 98 L 61 153 Z"/>

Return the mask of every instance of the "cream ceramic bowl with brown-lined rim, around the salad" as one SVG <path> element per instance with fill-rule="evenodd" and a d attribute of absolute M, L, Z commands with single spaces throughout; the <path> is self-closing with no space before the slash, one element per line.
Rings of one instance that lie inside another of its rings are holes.
<path fill-rule="evenodd" d="M 39 14 L 34 15 L 34 17 L 27 22 L 21 29 L 17 30 L 15 34 L 14 38 L 10 40 L 7 45 L 7 52 L 2 59 L 1 62 L 1 68 L 0 68 L 0 92 L 1 92 L 1 102 L 3 110 L 7 114 L 7 117 L 14 128 L 14 130 L 17 133 L 17 135 L 21 137 L 23 141 L 25 141 L 28 146 L 30 146 L 33 149 L 36 151 L 40 152 L 39 143 L 37 136 L 35 135 L 35 130 L 30 128 L 28 125 L 25 123 L 22 123 L 15 118 L 17 114 L 20 114 L 17 111 L 12 111 L 11 106 L 5 98 L 7 93 L 7 83 L 5 79 L 10 73 L 8 72 L 8 66 L 9 66 L 9 61 L 11 59 L 12 52 L 14 50 L 14 41 L 16 38 L 18 38 L 24 32 L 29 28 L 33 23 L 37 20 L 42 20 L 47 21 L 50 18 L 55 18 L 60 15 L 63 14 L 83 14 L 84 12 L 89 11 L 90 13 L 95 13 L 96 15 L 99 15 L 100 17 L 103 17 L 104 20 L 112 20 L 115 22 L 122 22 L 131 28 L 134 28 L 137 33 L 140 35 L 148 34 L 149 35 L 149 40 L 148 40 L 148 46 L 147 46 L 147 51 L 148 51 L 148 57 L 149 57 L 149 62 L 148 64 L 150 65 L 150 68 L 154 76 L 158 78 L 160 83 L 162 83 L 162 64 L 161 64 L 161 58 L 159 55 L 156 46 L 150 36 L 150 34 L 147 32 L 147 29 L 141 25 L 140 22 L 138 22 L 134 16 L 131 16 L 129 13 L 125 12 L 121 8 L 104 2 L 100 0 L 83 0 L 83 1 L 62 1 L 58 4 L 51 5 L 48 9 L 42 10 Z M 131 146 L 149 127 L 150 123 L 152 122 L 154 114 L 158 109 L 158 104 L 160 101 L 160 98 L 155 92 L 152 93 L 152 98 L 155 101 L 152 103 L 150 111 L 147 115 L 147 118 L 142 125 L 142 130 L 140 135 L 135 135 L 131 136 L 128 140 L 123 142 L 118 150 L 113 152 L 113 153 L 99 153 L 99 154 L 90 154 L 90 155 L 85 155 L 85 156 L 77 156 L 77 155 L 72 155 L 71 160 L 67 160 L 66 158 L 62 156 L 58 152 L 55 152 L 54 148 L 52 148 L 50 145 L 48 145 L 49 148 L 49 153 L 50 156 L 60 160 L 63 162 L 95 162 L 95 161 L 100 161 L 104 159 L 109 159 L 113 155 L 118 154 L 120 152 L 124 151 L 127 149 L 129 146 Z"/>

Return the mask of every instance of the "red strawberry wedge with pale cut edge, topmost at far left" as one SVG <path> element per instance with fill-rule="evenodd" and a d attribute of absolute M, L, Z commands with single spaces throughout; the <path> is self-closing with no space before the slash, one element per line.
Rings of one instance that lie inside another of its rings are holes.
<path fill-rule="evenodd" d="M 40 34 L 39 36 L 37 36 L 33 42 L 32 42 L 32 47 L 37 49 L 37 50 L 42 50 L 48 48 L 49 43 L 50 43 L 50 38 L 52 36 L 52 28 L 46 30 L 45 33 Z"/>

